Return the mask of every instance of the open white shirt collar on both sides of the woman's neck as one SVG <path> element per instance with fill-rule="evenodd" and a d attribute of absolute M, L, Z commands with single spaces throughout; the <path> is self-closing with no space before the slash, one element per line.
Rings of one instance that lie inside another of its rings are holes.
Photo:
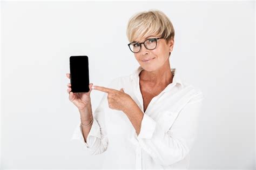
<path fill-rule="evenodd" d="M 183 88 L 184 87 L 184 84 L 183 84 L 183 81 L 182 81 L 182 79 L 181 79 L 181 77 L 180 77 L 180 75 L 179 75 L 179 72 L 178 72 L 178 70 L 177 70 L 177 68 L 170 68 L 171 69 L 171 72 L 172 72 L 172 74 L 173 74 L 173 79 L 172 79 L 172 84 L 180 84 L 181 85 L 181 87 Z M 139 73 L 142 71 L 142 70 L 144 70 L 143 68 L 142 68 L 142 66 L 139 66 L 132 74 L 130 74 L 130 78 L 132 79 L 132 80 L 138 80 L 138 78 L 139 78 Z"/>

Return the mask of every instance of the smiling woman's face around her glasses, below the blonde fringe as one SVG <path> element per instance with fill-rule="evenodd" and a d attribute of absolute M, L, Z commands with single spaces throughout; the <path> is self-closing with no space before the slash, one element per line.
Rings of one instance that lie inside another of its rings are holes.
<path fill-rule="evenodd" d="M 158 36 L 147 36 L 144 39 L 140 39 L 138 42 L 142 43 L 149 38 L 160 38 Z M 166 62 L 169 62 L 169 52 L 172 51 L 174 40 L 166 40 L 161 38 L 157 40 L 157 46 L 153 50 L 148 50 L 141 44 L 141 49 L 139 52 L 134 53 L 139 65 L 143 67 L 146 71 L 154 71 L 163 66 Z M 147 61 L 145 61 L 147 60 Z"/>

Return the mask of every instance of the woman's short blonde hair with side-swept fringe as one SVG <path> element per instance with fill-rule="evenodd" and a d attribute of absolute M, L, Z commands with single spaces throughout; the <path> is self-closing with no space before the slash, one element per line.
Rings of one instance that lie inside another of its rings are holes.
<path fill-rule="evenodd" d="M 127 24 L 126 36 L 129 42 L 138 41 L 149 35 L 167 40 L 174 39 L 174 28 L 164 12 L 157 9 L 135 13 Z"/>

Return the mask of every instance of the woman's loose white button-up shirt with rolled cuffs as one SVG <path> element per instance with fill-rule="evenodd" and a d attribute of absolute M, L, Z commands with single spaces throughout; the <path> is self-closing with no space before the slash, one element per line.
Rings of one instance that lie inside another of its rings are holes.
<path fill-rule="evenodd" d="M 124 88 L 144 113 L 139 87 L 142 70 L 139 66 L 130 76 L 113 79 L 107 87 Z M 188 168 L 204 97 L 200 90 L 181 80 L 177 69 L 171 69 L 171 72 L 174 75 L 172 83 L 147 106 L 139 135 L 124 112 L 109 108 L 107 93 L 104 93 L 93 112 L 86 142 L 80 121 L 71 140 L 81 141 L 82 147 L 91 155 L 105 152 L 104 169 Z"/>

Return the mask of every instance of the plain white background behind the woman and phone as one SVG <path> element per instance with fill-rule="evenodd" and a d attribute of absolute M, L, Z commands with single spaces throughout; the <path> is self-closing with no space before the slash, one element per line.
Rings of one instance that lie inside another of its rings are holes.
<path fill-rule="evenodd" d="M 204 93 L 191 169 L 255 168 L 255 4 L 251 2 L 3 2 L 1 169 L 98 168 L 70 141 L 79 123 L 68 99 L 69 57 L 89 57 L 90 82 L 106 86 L 139 64 L 126 25 L 159 9 L 176 31 L 170 63 Z M 103 93 L 91 93 L 93 111 Z"/>

